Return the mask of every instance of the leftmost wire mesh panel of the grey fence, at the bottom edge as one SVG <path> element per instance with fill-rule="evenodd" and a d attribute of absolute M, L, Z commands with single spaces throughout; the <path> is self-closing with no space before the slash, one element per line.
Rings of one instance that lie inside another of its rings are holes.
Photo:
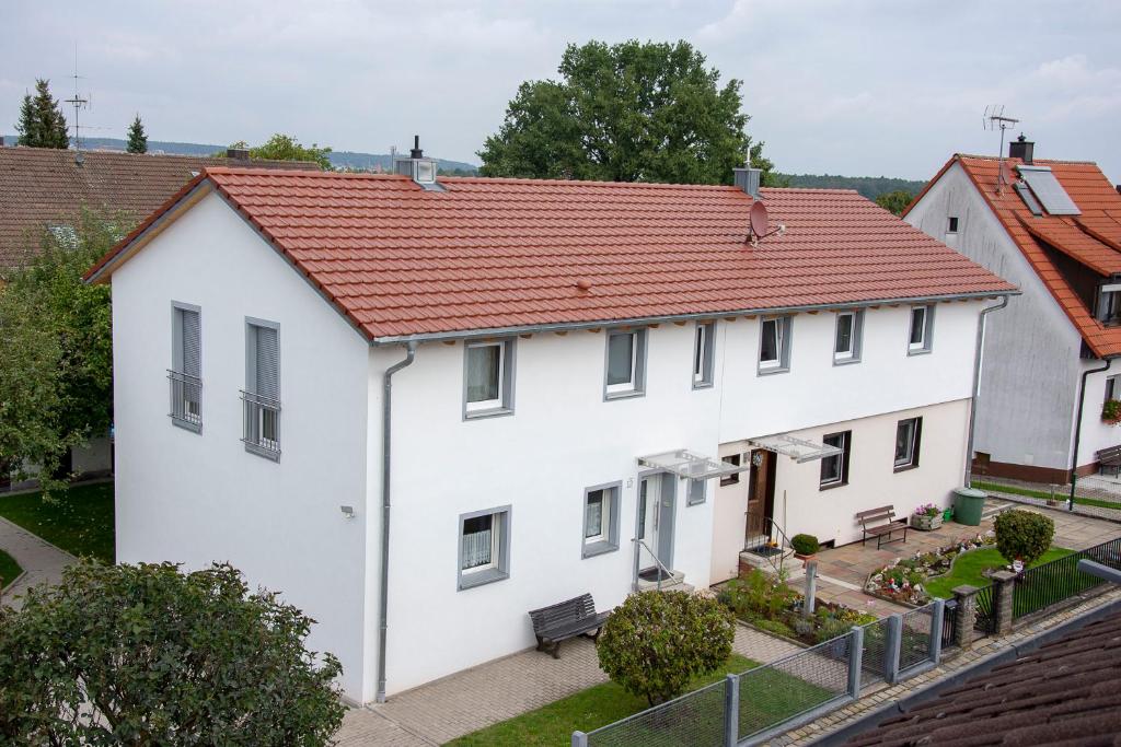
<path fill-rule="evenodd" d="M 694 690 L 587 732 L 589 747 L 719 747 L 724 744 L 724 682 Z"/>

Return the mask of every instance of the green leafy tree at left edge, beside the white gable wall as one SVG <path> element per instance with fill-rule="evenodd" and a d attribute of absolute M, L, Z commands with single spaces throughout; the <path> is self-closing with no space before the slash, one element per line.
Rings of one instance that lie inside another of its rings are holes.
<path fill-rule="evenodd" d="M 73 226 L 45 230 L 39 254 L 0 288 L 0 471 L 26 478 L 36 465 L 49 489 L 68 449 L 108 430 L 109 288 L 82 274 L 129 223 L 84 211 Z"/>

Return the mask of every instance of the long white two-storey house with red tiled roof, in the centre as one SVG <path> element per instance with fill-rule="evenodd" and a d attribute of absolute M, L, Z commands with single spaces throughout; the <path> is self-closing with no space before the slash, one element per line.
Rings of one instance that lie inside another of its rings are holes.
<path fill-rule="evenodd" d="M 118 560 L 282 591 L 353 700 L 659 566 L 730 578 L 767 520 L 840 544 L 960 485 L 980 314 L 1015 288 L 855 193 L 762 189 L 752 232 L 758 171 L 399 166 L 209 169 L 90 273 L 113 282 Z"/>

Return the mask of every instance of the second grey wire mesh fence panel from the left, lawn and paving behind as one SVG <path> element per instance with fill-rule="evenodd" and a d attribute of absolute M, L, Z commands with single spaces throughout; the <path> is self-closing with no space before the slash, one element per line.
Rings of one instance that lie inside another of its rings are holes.
<path fill-rule="evenodd" d="M 740 739 L 846 698 L 851 648 L 846 634 L 741 674 Z"/>

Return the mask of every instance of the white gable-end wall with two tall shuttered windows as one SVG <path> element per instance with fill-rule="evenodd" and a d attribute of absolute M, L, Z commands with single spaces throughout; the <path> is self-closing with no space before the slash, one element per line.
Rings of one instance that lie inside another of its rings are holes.
<path fill-rule="evenodd" d="M 172 301 L 202 307 L 202 417 L 168 418 Z M 279 323 L 279 463 L 248 454 L 245 317 Z M 365 342 L 215 195 L 113 276 L 117 557 L 230 561 L 317 620 L 309 645 L 362 695 Z"/>

